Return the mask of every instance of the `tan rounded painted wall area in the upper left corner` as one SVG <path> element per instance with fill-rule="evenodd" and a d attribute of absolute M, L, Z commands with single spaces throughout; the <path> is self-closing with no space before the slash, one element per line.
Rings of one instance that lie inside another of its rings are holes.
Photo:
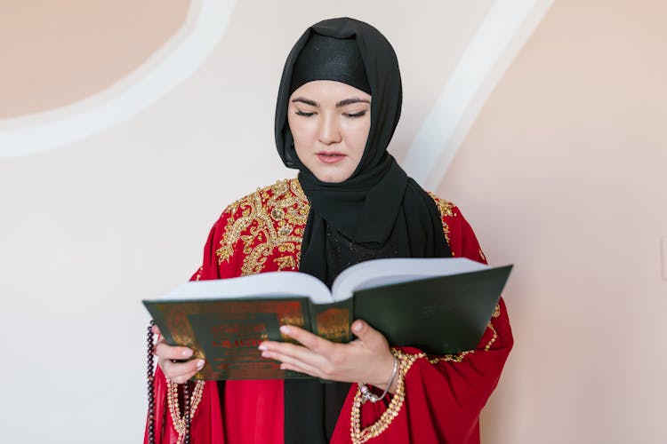
<path fill-rule="evenodd" d="M 0 119 L 62 107 L 128 75 L 173 36 L 189 0 L 3 0 Z"/>

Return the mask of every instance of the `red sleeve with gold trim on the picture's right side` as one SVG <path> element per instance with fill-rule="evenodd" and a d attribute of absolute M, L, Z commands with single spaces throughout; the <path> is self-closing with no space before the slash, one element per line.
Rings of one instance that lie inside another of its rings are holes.
<path fill-rule="evenodd" d="M 451 204 L 446 210 L 443 228 L 454 257 L 486 263 L 460 211 Z M 350 391 L 341 413 L 350 423 L 339 421 L 332 442 L 478 443 L 479 413 L 498 384 L 512 344 L 501 299 L 474 351 L 428 356 L 411 347 L 394 349 L 400 362 L 396 394 L 386 403 L 361 404 L 358 391 Z"/>

